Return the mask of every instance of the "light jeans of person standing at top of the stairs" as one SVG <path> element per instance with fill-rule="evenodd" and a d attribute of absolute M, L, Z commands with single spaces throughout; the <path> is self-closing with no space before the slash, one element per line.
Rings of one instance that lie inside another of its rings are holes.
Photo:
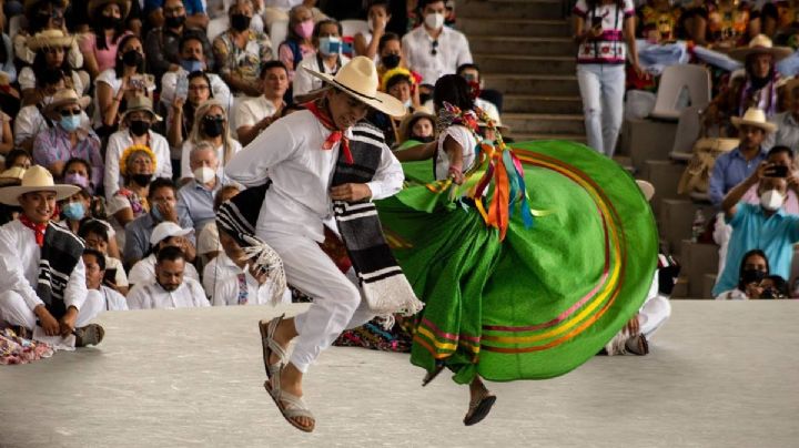
<path fill-rule="evenodd" d="M 577 64 L 588 146 L 613 157 L 624 116 L 624 64 Z"/>

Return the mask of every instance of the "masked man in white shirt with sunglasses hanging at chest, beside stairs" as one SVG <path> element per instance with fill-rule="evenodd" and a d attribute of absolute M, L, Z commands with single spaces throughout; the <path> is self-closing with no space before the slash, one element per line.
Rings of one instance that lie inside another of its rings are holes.
<path fill-rule="evenodd" d="M 421 0 L 419 8 L 424 24 L 403 37 L 403 51 L 408 69 L 422 75 L 422 83 L 434 85 L 438 78 L 472 62 L 472 53 L 463 33 L 444 27 L 444 0 Z"/>

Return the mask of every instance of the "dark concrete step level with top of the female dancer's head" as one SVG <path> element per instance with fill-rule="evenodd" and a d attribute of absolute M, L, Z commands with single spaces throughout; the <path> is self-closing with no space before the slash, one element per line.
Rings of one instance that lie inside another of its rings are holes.
<path fill-rule="evenodd" d="M 485 84 L 504 94 L 579 96 L 576 75 L 484 73 Z"/>

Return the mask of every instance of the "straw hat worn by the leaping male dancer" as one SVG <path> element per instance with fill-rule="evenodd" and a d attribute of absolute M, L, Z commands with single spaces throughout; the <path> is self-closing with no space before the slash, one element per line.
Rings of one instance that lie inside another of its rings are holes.
<path fill-rule="evenodd" d="M 340 89 L 350 96 L 363 102 L 370 108 L 376 109 L 386 115 L 405 115 L 405 105 L 396 98 L 378 92 L 380 80 L 374 62 L 366 57 L 353 58 L 346 65 L 342 67 L 335 77 L 327 73 L 320 73 L 304 67 L 313 77 Z"/>

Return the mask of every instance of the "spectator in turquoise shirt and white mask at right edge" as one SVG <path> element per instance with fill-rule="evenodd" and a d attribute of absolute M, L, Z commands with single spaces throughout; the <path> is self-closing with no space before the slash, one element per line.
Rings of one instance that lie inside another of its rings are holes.
<path fill-rule="evenodd" d="M 770 273 L 787 278 L 793 257 L 793 244 L 799 242 L 799 215 L 789 215 L 782 207 L 786 193 L 790 189 L 797 192 L 795 173 L 786 177 L 768 177 L 767 164 L 761 164 L 746 181 L 736 185 L 725 196 L 721 207 L 725 218 L 732 227 L 725 269 L 714 286 L 714 296 L 736 286 L 738 266 L 744 254 L 760 248 L 770 264 Z M 760 204 L 747 204 L 741 201 L 744 194 L 758 185 Z"/>

